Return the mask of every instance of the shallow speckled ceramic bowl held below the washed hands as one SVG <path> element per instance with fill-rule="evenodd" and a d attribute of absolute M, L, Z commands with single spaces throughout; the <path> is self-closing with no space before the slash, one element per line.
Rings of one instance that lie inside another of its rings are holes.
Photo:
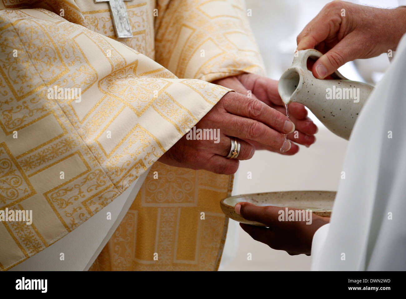
<path fill-rule="evenodd" d="M 332 191 L 285 191 L 266 192 L 231 196 L 220 201 L 223 213 L 238 222 L 266 226 L 262 223 L 244 219 L 234 211 L 237 203 L 246 201 L 262 207 L 273 205 L 276 207 L 294 207 L 301 210 L 311 210 L 313 214 L 330 217 L 336 192 Z"/>

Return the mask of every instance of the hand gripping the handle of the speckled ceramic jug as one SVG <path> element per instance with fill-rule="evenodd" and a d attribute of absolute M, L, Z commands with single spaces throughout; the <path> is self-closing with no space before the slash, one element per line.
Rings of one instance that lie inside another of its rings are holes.
<path fill-rule="evenodd" d="M 348 61 L 395 51 L 406 33 L 406 7 L 376 7 L 333 1 L 304 27 L 298 50 L 315 48 L 322 57 L 313 64 L 316 78 L 324 79 Z"/>

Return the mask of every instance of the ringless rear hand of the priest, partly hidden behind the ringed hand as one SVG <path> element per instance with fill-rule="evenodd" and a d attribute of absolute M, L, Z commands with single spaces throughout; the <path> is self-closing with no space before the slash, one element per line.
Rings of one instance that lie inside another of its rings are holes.
<path fill-rule="evenodd" d="M 213 82 L 227 88 L 234 89 L 240 94 L 246 96 L 251 96 L 252 98 L 259 99 L 269 107 L 272 107 L 279 112 L 286 115 L 286 108 L 283 104 L 281 97 L 278 93 L 278 81 L 272 80 L 263 76 L 256 74 L 241 74 L 238 76 L 230 76 L 224 79 L 219 79 Z M 307 110 L 302 104 L 291 103 L 288 105 L 289 118 L 295 124 L 296 131 L 287 135 L 289 140 L 292 140 L 298 144 L 303 144 L 305 146 L 310 146 L 315 142 L 315 137 L 313 136 L 317 132 L 316 125 L 307 117 Z M 269 151 L 275 151 L 273 148 L 264 146 L 254 142 L 253 140 L 248 140 L 255 145 L 256 149 L 267 149 Z M 293 155 L 299 151 L 299 147 L 292 143 L 292 147 L 289 151 L 283 152 L 284 155 Z"/>

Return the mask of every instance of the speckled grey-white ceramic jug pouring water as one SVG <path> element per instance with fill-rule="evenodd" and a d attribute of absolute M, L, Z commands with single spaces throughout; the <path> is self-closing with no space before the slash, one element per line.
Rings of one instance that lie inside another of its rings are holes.
<path fill-rule="evenodd" d="M 348 140 L 355 120 L 374 87 L 350 81 L 338 71 L 331 75 L 333 79 L 316 79 L 307 70 L 307 59 L 316 60 L 321 56 L 322 53 L 314 49 L 298 51 L 292 66 L 279 79 L 278 92 L 285 104 L 297 102 L 305 105 L 327 129 Z M 339 89 L 345 99 L 339 98 Z M 356 93 L 351 96 L 350 92 L 354 91 Z M 358 94 L 357 98 L 355 94 Z M 333 98 L 328 98 L 330 96 Z"/>

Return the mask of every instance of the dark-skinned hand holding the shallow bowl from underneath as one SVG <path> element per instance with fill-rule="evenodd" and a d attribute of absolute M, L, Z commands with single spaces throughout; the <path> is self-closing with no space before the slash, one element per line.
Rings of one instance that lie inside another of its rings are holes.
<path fill-rule="evenodd" d="M 273 249 L 284 250 L 290 255 L 301 253 L 310 255 L 311 242 L 315 232 L 322 225 L 329 223 L 330 218 L 311 214 L 311 224 L 306 224 L 306 221 L 280 221 L 282 212 L 279 211 L 285 213 L 285 207 L 259 207 L 246 202 L 235 205 L 235 212 L 245 219 L 257 221 L 267 226 L 259 227 L 240 223 L 242 229 L 254 240 L 267 244 Z"/>

